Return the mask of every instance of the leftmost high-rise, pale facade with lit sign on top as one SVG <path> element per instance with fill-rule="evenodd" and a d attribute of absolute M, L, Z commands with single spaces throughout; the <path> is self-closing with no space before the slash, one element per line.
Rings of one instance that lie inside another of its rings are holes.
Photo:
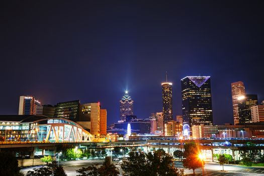
<path fill-rule="evenodd" d="M 36 115 L 40 102 L 33 96 L 20 96 L 18 115 Z"/>

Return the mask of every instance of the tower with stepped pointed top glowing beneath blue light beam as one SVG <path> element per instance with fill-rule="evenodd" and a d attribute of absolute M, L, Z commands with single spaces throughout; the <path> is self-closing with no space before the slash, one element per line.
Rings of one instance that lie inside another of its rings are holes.
<path fill-rule="evenodd" d="M 128 95 L 128 91 L 126 91 L 122 100 L 120 100 L 120 119 L 122 121 L 126 121 L 126 116 L 133 115 L 133 102 Z"/>

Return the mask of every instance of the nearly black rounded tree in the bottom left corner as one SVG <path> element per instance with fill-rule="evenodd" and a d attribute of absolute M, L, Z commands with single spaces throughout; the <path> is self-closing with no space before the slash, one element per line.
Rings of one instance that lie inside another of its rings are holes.
<path fill-rule="evenodd" d="M 17 176 L 21 175 L 19 172 L 18 160 L 12 153 L 0 152 L 1 164 L 0 175 L 1 176 Z"/>

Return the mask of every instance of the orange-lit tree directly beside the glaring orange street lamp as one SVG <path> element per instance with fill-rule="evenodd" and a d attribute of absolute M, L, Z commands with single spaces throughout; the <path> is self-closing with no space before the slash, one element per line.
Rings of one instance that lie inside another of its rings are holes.
<path fill-rule="evenodd" d="M 195 169 L 201 168 L 203 165 L 201 159 L 198 157 L 200 149 L 194 142 L 185 144 L 184 149 L 185 159 L 183 160 L 183 165 L 185 168 L 193 169 L 195 174 Z"/>

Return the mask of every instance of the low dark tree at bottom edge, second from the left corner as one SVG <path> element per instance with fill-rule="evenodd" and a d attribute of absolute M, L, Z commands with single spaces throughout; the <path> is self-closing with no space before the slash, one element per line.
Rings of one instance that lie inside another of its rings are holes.
<path fill-rule="evenodd" d="M 44 167 L 33 168 L 28 171 L 26 176 L 67 176 L 62 166 L 58 166 L 56 161 L 47 163 Z"/>

